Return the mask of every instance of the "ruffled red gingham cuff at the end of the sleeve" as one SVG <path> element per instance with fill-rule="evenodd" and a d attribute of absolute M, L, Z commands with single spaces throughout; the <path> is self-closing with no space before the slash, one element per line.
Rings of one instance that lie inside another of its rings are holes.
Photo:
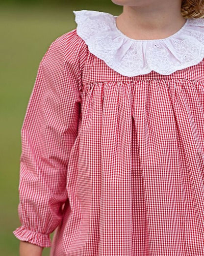
<path fill-rule="evenodd" d="M 21 241 L 26 241 L 40 247 L 51 247 L 50 234 L 41 234 L 27 229 L 21 225 L 13 231 L 13 234 Z"/>

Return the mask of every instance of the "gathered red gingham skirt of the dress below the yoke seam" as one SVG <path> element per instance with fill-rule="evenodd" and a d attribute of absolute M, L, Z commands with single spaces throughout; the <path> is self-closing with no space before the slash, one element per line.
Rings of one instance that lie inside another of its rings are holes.
<path fill-rule="evenodd" d="M 60 239 L 75 242 L 66 255 L 77 245 L 98 256 L 204 255 L 204 85 L 94 83 L 83 104 L 68 165 Z"/>

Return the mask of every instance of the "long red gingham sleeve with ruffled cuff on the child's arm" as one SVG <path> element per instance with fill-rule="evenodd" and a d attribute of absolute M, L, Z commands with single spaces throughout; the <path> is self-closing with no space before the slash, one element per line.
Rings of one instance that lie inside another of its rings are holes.
<path fill-rule="evenodd" d="M 68 36 L 67 36 L 68 35 Z M 13 234 L 50 247 L 50 233 L 63 218 L 68 199 L 66 172 L 80 116 L 80 70 L 75 32 L 53 41 L 41 60 L 21 129 L 18 214 Z M 72 57 L 73 56 L 73 57 Z"/>

